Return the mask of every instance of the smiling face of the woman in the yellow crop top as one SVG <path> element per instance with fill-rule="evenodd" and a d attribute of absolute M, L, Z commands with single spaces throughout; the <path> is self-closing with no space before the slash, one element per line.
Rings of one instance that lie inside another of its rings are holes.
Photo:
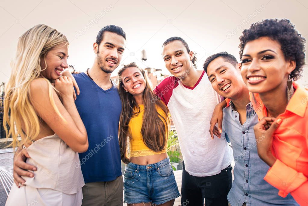
<path fill-rule="evenodd" d="M 133 96 L 142 95 L 146 86 L 146 81 L 141 71 L 137 67 L 128 67 L 121 75 L 124 89 Z"/>

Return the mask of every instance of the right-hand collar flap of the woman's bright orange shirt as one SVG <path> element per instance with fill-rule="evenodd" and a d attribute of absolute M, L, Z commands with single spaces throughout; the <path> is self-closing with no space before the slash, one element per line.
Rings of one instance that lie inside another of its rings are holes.
<path fill-rule="evenodd" d="M 293 82 L 293 86 L 295 92 L 291 97 L 286 110 L 293 112 L 300 117 L 304 117 L 308 105 L 308 89 L 299 86 L 295 82 Z"/>

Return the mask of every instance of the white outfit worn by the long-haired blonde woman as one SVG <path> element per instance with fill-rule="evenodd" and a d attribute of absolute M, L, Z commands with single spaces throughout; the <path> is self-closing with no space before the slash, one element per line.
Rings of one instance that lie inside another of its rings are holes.
<path fill-rule="evenodd" d="M 22 177 L 26 186 L 13 183 L 6 206 L 81 205 L 84 180 L 77 152 L 56 134 L 36 140 L 27 152 L 31 158 L 26 163 L 37 171 L 33 178 Z"/>

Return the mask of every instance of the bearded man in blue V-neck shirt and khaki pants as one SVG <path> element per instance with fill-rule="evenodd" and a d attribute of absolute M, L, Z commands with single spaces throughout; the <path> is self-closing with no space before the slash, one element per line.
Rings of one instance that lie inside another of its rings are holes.
<path fill-rule="evenodd" d="M 110 76 L 120 64 L 125 46 L 126 35 L 123 29 L 115 25 L 105 26 L 99 31 L 93 44 L 96 57 L 92 67 L 86 73 L 73 76 L 73 70 L 62 73 L 71 76 L 77 94 L 80 88 L 75 104 L 88 134 L 88 151 L 79 153 L 80 163 L 75 165 L 81 166 L 85 181 L 82 205 L 123 205 L 118 141 L 122 105 L 118 89 Z M 16 161 L 19 162 L 18 165 L 25 164 L 22 156 L 15 157 L 14 164 Z M 18 169 L 25 167 L 20 166 Z M 16 172 L 18 173 L 14 168 L 14 173 Z M 31 174 L 29 172 L 27 176 Z"/>

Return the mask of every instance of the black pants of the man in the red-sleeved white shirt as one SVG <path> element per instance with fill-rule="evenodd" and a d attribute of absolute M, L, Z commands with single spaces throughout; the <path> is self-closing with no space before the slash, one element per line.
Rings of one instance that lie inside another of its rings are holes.
<path fill-rule="evenodd" d="M 227 195 L 232 187 L 232 167 L 221 170 L 217 175 L 196 177 L 185 171 L 183 162 L 181 205 L 228 206 Z"/>

